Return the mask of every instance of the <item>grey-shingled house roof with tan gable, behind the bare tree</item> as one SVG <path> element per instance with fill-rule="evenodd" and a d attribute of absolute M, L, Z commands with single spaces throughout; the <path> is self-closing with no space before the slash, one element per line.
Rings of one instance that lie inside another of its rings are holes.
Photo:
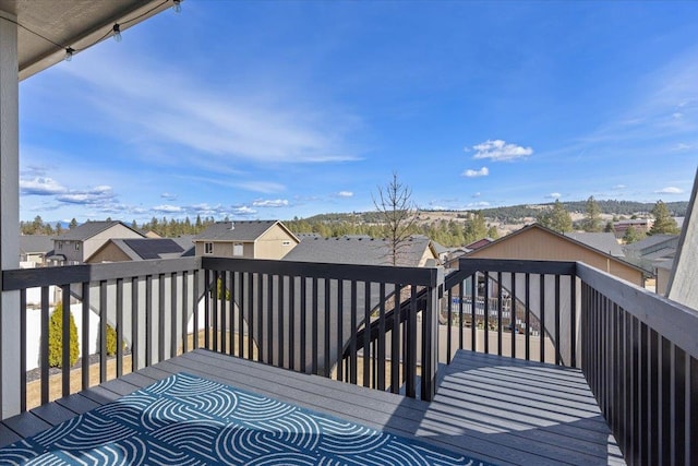
<path fill-rule="evenodd" d="M 284 260 L 358 265 L 393 264 L 389 242 L 368 236 L 306 238 L 286 254 Z M 434 266 L 438 263 L 438 253 L 431 239 L 413 236 L 401 249 L 397 262 L 401 266 Z"/>

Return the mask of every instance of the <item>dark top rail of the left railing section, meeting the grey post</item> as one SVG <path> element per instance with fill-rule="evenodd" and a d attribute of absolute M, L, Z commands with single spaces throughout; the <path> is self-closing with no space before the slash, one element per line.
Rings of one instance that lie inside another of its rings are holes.
<path fill-rule="evenodd" d="M 105 264 L 64 265 L 2 271 L 2 290 L 12 291 L 49 285 L 92 283 L 146 275 L 171 274 L 201 268 L 201 258 L 153 259 Z"/>

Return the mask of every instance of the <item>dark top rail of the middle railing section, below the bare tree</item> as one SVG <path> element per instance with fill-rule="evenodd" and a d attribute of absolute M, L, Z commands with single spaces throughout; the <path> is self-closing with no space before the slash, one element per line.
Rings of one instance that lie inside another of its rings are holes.
<path fill-rule="evenodd" d="M 202 258 L 203 268 L 251 272 L 269 275 L 305 276 L 400 285 L 437 286 L 443 282 L 442 267 L 394 267 L 316 262 L 275 261 L 265 259 Z M 441 280 L 440 280 L 441 275 Z"/>

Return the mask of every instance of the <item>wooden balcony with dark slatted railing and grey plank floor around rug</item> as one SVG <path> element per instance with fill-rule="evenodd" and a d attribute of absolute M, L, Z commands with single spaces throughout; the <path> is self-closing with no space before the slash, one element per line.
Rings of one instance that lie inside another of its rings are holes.
<path fill-rule="evenodd" d="M 125 347 L 113 380 L 104 344 L 96 366 L 83 358 L 79 393 L 64 365 L 56 401 L 44 350 L 37 407 L 25 371 L 3 372 L 20 397 L 0 444 L 188 372 L 495 464 L 698 463 L 696 312 L 583 264 L 462 260 L 444 277 L 191 258 L 3 272 L 22 309 L 41 288 L 43 328 L 49 285 L 100 318 L 100 342 L 109 322 Z M 96 336 L 83 327 L 85 354 Z"/>

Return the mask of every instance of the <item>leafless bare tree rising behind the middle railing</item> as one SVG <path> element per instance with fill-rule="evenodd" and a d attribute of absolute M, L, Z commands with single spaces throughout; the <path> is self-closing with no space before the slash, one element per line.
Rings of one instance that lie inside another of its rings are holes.
<path fill-rule="evenodd" d="M 417 205 L 412 202 L 412 190 L 402 184 L 393 172 L 393 181 L 385 187 L 378 187 L 378 194 L 373 198 L 380 217 L 383 220 L 389 247 L 389 259 L 397 265 L 400 255 L 409 247 L 410 236 L 419 215 Z"/>

